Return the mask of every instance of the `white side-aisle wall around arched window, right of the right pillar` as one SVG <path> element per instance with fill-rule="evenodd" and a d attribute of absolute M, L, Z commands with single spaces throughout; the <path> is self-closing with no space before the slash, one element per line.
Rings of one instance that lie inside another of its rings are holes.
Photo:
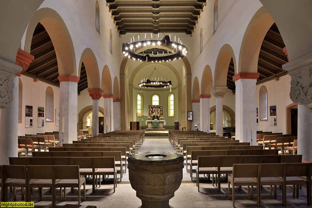
<path fill-rule="evenodd" d="M 272 131 L 273 133 L 282 132 L 286 134 L 286 106 L 293 103 L 290 100 L 290 76 L 287 74 L 280 77 L 279 81 L 271 80 L 257 85 L 257 107 L 259 112 L 259 90 L 265 86 L 268 91 L 268 121 L 260 121 L 257 130 Z M 277 126 L 270 126 L 269 107 L 276 105 Z"/>

